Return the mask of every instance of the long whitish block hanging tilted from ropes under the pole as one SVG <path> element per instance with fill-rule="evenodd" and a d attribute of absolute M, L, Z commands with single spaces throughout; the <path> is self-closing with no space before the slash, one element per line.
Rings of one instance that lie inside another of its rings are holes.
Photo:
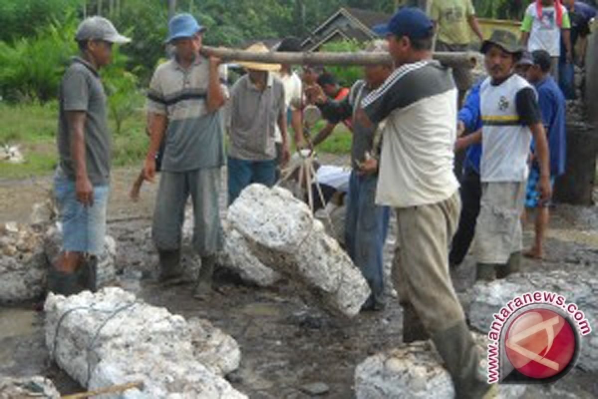
<path fill-rule="evenodd" d="M 262 263 L 303 286 L 307 301 L 355 316 L 370 295 L 359 269 L 290 191 L 252 184 L 228 209 L 228 221 Z"/>

